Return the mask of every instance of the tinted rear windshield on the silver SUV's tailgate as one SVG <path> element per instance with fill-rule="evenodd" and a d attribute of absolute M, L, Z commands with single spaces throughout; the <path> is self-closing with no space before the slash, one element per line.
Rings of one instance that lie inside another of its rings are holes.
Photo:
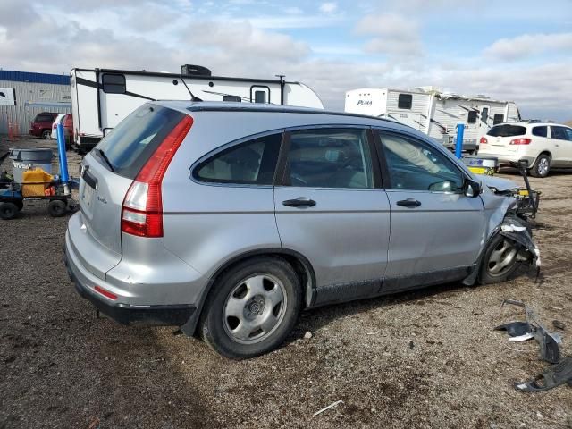
<path fill-rule="evenodd" d="M 101 157 L 99 151 L 103 151 L 114 172 L 134 179 L 183 116 L 159 105 L 142 105 L 111 130 L 93 152 Z"/>

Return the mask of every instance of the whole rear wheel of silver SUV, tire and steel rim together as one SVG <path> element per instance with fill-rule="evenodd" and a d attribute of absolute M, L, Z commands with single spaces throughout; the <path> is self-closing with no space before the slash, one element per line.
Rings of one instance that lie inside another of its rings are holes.
<path fill-rule="evenodd" d="M 280 257 L 257 257 L 232 267 L 214 283 L 199 329 L 224 357 L 256 357 L 278 348 L 298 320 L 299 279 Z"/>

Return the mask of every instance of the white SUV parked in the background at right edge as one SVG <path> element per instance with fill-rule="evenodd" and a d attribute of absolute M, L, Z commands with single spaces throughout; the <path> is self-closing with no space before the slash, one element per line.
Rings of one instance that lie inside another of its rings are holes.
<path fill-rule="evenodd" d="M 499 164 L 528 162 L 529 173 L 546 177 L 551 168 L 572 167 L 572 129 L 546 122 L 505 122 L 492 127 L 479 142 L 479 154 Z"/>

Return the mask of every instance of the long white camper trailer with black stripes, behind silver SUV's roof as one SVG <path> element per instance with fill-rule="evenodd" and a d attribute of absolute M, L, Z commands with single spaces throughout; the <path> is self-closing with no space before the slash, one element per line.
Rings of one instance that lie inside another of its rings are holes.
<path fill-rule="evenodd" d="M 107 132 L 149 100 L 205 100 L 297 105 L 323 109 L 315 92 L 282 76 L 275 80 L 211 76 L 186 64 L 181 74 L 111 69 L 72 69 L 74 146 L 88 152 Z"/>

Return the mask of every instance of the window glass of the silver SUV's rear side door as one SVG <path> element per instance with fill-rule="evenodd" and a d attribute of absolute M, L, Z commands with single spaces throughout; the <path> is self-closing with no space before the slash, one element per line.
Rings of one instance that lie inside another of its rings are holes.
<path fill-rule="evenodd" d="M 374 188 L 366 130 L 292 131 L 285 184 L 310 188 Z"/>

